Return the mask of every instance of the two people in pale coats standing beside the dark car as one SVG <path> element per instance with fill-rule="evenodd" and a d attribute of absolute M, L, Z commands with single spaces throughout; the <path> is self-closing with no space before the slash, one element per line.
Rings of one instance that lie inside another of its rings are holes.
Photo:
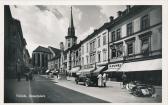
<path fill-rule="evenodd" d="M 97 78 L 98 78 L 98 87 L 106 87 L 107 74 L 106 73 L 99 74 Z"/>

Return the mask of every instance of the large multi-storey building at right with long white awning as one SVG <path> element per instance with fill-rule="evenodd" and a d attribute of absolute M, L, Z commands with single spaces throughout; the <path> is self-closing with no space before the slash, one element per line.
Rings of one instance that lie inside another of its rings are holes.
<path fill-rule="evenodd" d="M 110 22 L 109 75 L 161 84 L 162 8 L 127 6 Z M 117 71 L 117 72 L 116 72 Z"/>

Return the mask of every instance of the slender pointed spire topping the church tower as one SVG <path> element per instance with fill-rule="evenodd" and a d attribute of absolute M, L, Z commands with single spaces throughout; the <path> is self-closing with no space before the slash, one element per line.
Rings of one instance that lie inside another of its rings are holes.
<path fill-rule="evenodd" d="M 70 23 L 69 23 L 69 28 L 68 28 L 68 36 L 75 36 L 75 28 L 74 28 L 74 24 L 73 24 L 72 6 L 71 6 Z"/>

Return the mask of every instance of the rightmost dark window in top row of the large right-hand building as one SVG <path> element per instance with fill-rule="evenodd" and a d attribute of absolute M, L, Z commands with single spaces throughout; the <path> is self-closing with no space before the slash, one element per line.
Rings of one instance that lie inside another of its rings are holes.
<path fill-rule="evenodd" d="M 149 28 L 149 16 L 145 15 L 141 18 L 141 30 Z"/>

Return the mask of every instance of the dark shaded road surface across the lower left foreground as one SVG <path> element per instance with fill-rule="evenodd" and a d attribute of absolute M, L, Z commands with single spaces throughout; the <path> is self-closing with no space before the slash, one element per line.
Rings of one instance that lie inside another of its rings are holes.
<path fill-rule="evenodd" d="M 35 81 L 5 80 L 6 103 L 108 103 L 36 76 Z"/>

